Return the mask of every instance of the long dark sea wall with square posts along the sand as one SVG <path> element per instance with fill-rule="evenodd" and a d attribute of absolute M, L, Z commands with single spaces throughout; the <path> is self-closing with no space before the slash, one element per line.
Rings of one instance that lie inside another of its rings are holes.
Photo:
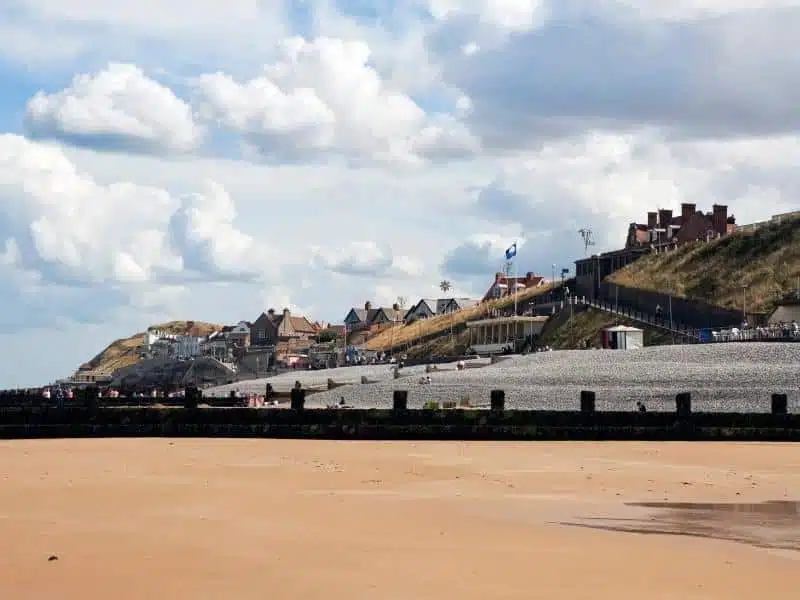
<path fill-rule="evenodd" d="M 492 409 L 407 410 L 402 394 L 393 409 L 108 407 L 91 404 L 0 406 L 0 439 L 79 437 L 271 437 L 352 440 L 736 440 L 800 441 L 800 414 L 786 396 L 771 412 L 696 413 L 679 394 L 671 412 L 600 412 L 584 392 L 574 411 L 504 410 L 496 391 Z M 203 399 L 205 402 L 206 399 Z"/>

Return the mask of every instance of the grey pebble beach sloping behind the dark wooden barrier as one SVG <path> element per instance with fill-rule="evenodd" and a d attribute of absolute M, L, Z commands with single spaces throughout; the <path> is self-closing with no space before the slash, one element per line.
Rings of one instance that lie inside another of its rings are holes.
<path fill-rule="evenodd" d="M 480 406 L 490 391 L 503 389 L 512 409 L 575 410 L 581 390 L 597 394 L 598 410 L 632 410 L 637 401 L 650 410 L 674 409 L 675 395 L 691 392 L 698 411 L 767 412 L 770 395 L 785 393 L 789 410 L 800 412 L 800 344 L 730 343 L 658 346 L 632 351 L 565 350 L 525 356 L 467 362 L 463 371 L 455 363 L 437 365 L 428 373 L 430 384 L 419 381 L 424 365 L 401 369 L 395 379 L 391 365 L 343 367 L 321 371 L 295 371 L 276 377 L 243 381 L 206 391 L 226 395 L 263 393 L 267 382 L 278 390 L 295 381 L 320 388 L 332 379 L 347 384 L 310 394 L 309 408 L 345 402 L 355 408 L 387 408 L 392 391 L 409 391 L 410 408 L 427 401 L 463 402 Z M 362 377 L 369 383 L 362 384 Z"/>

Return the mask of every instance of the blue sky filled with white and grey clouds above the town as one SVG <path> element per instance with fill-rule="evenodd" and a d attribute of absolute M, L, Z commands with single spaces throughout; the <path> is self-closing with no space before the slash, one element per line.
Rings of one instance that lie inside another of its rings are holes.
<path fill-rule="evenodd" d="M 480 294 L 798 207 L 800 0 L 8 0 L 0 387 L 168 319 Z"/>

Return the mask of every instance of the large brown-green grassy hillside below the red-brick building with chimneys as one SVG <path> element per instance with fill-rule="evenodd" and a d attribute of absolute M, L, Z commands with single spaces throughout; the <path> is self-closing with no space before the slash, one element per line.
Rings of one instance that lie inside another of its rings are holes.
<path fill-rule="evenodd" d="M 742 308 L 747 286 L 748 312 L 766 313 L 798 285 L 798 278 L 800 218 L 794 218 L 648 255 L 608 280 L 736 309 Z"/>

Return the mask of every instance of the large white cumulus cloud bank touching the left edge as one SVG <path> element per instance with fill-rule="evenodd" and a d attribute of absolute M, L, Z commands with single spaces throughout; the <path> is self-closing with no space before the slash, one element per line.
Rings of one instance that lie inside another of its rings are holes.
<path fill-rule="evenodd" d="M 257 280 L 269 272 L 269 252 L 234 216 L 217 184 L 185 197 L 103 185 L 55 147 L 0 136 L 0 256 L 16 273 L 4 286 L 14 292 L 53 284 L 99 294 L 101 286 L 119 302 L 132 285 Z M 152 296 L 142 302 L 154 304 Z"/>

